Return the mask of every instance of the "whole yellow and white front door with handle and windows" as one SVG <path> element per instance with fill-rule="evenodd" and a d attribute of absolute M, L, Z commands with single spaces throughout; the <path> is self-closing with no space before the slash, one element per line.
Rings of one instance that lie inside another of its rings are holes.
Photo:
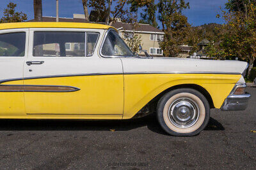
<path fill-rule="evenodd" d="M 99 57 L 103 35 L 103 29 L 29 30 L 27 114 L 122 115 L 122 62 Z"/>

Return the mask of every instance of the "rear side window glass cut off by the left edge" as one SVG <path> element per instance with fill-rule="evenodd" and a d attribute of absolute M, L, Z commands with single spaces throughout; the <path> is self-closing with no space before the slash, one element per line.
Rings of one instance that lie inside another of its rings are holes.
<path fill-rule="evenodd" d="M 0 34 L 0 57 L 24 57 L 26 32 Z"/>

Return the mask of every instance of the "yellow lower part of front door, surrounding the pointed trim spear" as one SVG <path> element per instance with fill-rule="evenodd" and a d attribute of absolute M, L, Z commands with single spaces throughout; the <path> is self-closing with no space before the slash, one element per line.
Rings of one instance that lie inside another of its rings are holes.
<path fill-rule="evenodd" d="M 76 92 L 24 92 L 26 112 L 36 114 L 123 114 L 123 75 L 24 80 L 24 85 L 67 85 Z"/>

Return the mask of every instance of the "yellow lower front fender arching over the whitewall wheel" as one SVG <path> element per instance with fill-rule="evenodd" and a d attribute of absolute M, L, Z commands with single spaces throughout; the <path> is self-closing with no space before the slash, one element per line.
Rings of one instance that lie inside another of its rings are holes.
<path fill-rule="evenodd" d="M 204 87 L 220 108 L 241 75 L 225 74 L 126 74 L 124 75 L 124 119 L 132 118 L 150 100 L 164 90 L 181 84 Z"/>

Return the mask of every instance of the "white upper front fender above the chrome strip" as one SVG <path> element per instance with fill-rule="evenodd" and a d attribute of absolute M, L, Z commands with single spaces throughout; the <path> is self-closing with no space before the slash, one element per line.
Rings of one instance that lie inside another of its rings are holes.
<path fill-rule="evenodd" d="M 124 73 L 134 72 L 212 72 L 212 73 L 243 73 L 247 62 L 236 60 L 202 60 L 155 57 L 122 58 Z"/>

